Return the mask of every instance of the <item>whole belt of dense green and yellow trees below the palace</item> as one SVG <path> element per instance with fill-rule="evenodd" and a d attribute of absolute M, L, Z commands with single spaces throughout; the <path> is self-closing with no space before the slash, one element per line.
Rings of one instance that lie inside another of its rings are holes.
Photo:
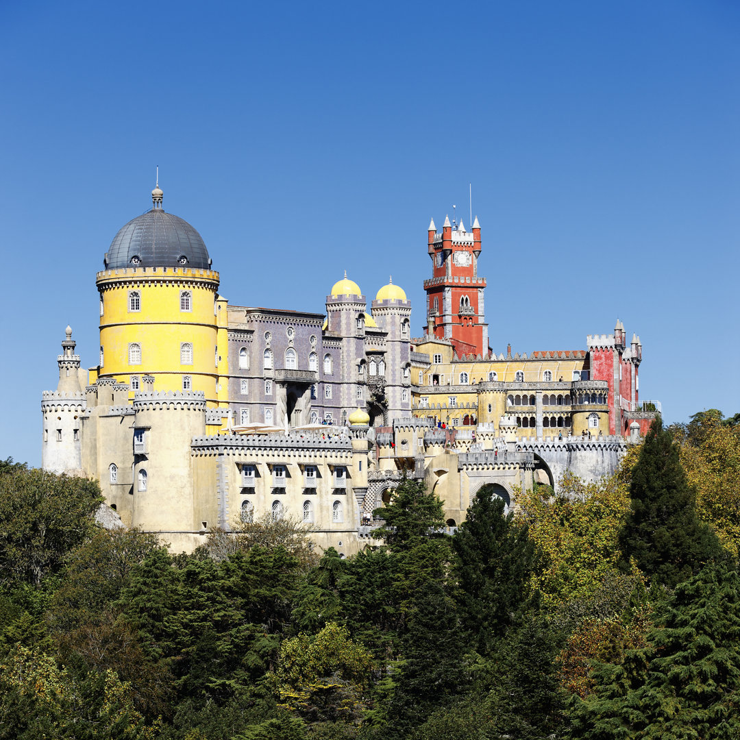
<path fill-rule="evenodd" d="M 288 519 L 192 555 L 0 461 L 0 740 L 740 737 L 740 425 L 656 423 L 616 473 L 405 480 L 343 559 Z"/>

